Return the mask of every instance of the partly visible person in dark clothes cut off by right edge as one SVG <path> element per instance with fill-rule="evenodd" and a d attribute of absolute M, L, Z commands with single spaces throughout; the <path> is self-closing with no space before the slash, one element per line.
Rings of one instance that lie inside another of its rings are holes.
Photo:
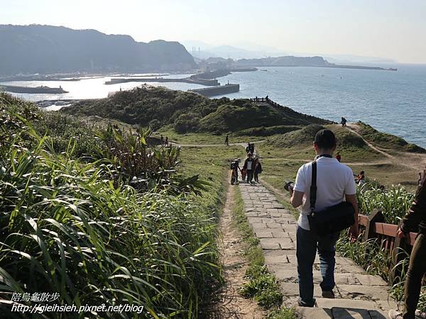
<path fill-rule="evenodd" d="M 422 278 L 426 273 L 426 179 L 423 175 L 420 186 L 410 209 L 403 218 L 403 223 L 397 230 L 400 238 L 409 237 L 410 231 L 418 231 L 408 264 L 407 277 L 404 285 L 404 308 L 400 313 L 389 311 L 391 319 L 426 318 L 426 313 L 416 311 L 419 302 Z"/>

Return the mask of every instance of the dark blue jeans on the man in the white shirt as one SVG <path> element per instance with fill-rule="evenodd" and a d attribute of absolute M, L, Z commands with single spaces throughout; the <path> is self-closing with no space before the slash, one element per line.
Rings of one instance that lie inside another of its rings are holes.
<path fill-rule="evenodd" d="M 336 259 L 335 245 L 339 239 L 339 233 L 320 237 L 297 226 L 297 276 L 299 280 L 299 304 L 300 306 L 313 307 L 314 298 L 314 280 L 312 276 L 312 266 L 314 265 L 315 255 L 320 255 L 320 269 L 322 291 L 332 291 L 334 284 L 334 265 Z"/>

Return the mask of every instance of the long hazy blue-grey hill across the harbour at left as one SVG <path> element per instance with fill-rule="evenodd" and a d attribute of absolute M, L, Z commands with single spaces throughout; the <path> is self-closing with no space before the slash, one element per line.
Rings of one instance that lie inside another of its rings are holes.
<path fill-rule="evenodd" d="M 194 59 L 178 42 L 136 42 L 129 35 L 62 26 L 0 25 L 0 74 L 188 70 Z"/>

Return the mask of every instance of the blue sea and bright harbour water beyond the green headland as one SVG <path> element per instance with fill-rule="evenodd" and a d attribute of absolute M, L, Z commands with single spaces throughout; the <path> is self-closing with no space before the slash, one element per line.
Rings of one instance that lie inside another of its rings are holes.
<path fill-rule="evenodd" d="M 383 66 L 389 67 L 389 66 Z M 240 91 L 230 99 L 268 96 L 295 111 L 340 122 L 363 121 L 386 133 L 426 147 L 426 65 L 391 65 L 397 72 L 322 67 L 259 67 L 256 72 L 233 72 L 220 77 L 221 84 L 238 83 Z M 143 74 L 141 74 L 143 75 Z M 165 77 L 187 77 L 170 74 Z M 67 94 L 15 94 L 23 99 L 96 99 L 141 82 L 105 85 L 111 77 L 82 78 L 78 82 L 4 82 L 21 86 L 62 86 Z M 204 86 L 185 83 L 155 83 L 187 91 Z M 217 96 L 220 97 L 220 96 Z"/>

